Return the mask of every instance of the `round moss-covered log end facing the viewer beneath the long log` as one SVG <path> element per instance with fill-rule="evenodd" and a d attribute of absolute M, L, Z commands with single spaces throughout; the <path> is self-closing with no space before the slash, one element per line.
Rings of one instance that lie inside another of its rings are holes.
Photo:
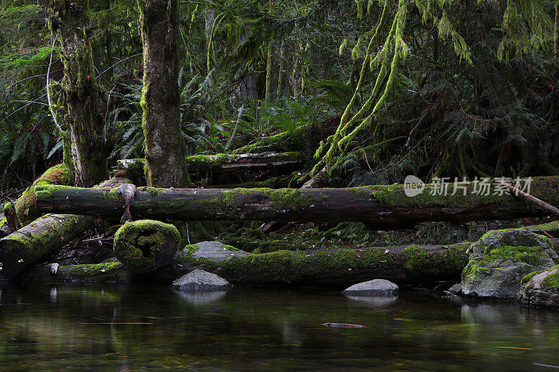
<path fill-rule="evenodd" d="M 180 244 L 175 226 L 152 220 L 125 223 L 115 233 L 115 255 L 134 274 L 164 267 Z"/>

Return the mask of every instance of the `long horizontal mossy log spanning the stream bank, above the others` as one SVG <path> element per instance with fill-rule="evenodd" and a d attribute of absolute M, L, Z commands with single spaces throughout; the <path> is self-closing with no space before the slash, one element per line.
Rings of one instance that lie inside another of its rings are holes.
<path fill-rule="evenodd" d="M 490 186 L 493 185 L 490 183 Z M 426 185 L 414 197 L 405 194 L 404 185 L 362 186 L 357 188 L 308 189 L 170 189 L 138 188 L 131 214 L 133 218 L 182 221 L 247 219 L 258 221 L 358 221 L 371 230 L 391 226 L 406 228 L 421 221 L 502 220 L 546 216 L 549 211 L 525 200 L 502 195 L 479 195 L 479 182 L 470 182 L 465 193 L 431 195 L 440 186 Z M 559 205 L 559 177 L 535 177 L 532 195 Z M 40 211 L 99 216 L 122 213 L 122 200 L 116 189 L 38 186 Z"/>

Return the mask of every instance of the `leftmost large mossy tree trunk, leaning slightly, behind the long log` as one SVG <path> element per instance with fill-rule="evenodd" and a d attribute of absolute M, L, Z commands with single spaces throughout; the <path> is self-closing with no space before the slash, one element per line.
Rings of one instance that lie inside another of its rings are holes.
<path fill-rule="evenodd" d="M 60 58 L 75 182 L 93 186 L 108 178 L 108 146 L 101 88 L 96 82 L 89 0 L 51 2 L 50 27 L 60 35 Z"/>

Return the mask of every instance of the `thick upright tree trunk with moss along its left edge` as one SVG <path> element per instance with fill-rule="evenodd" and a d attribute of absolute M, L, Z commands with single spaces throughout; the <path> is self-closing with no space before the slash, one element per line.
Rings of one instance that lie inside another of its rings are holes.
<path fill-rule="evenodd" d="M 180 127 L 178 0 L 138 0 L 144 54 L 142 91 L 146 179 L 150 186 L 190 185 Z"/>

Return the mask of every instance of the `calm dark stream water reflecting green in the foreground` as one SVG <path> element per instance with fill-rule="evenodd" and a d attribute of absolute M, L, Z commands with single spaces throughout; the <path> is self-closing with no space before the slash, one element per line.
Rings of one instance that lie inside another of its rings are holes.
<path fill-rule="evenodd" d="M 1 371 L 558 371 L 559 312 L 407 295 L 0 285 Z M 324 322 L 366 328 L 330 328 Z"/>

